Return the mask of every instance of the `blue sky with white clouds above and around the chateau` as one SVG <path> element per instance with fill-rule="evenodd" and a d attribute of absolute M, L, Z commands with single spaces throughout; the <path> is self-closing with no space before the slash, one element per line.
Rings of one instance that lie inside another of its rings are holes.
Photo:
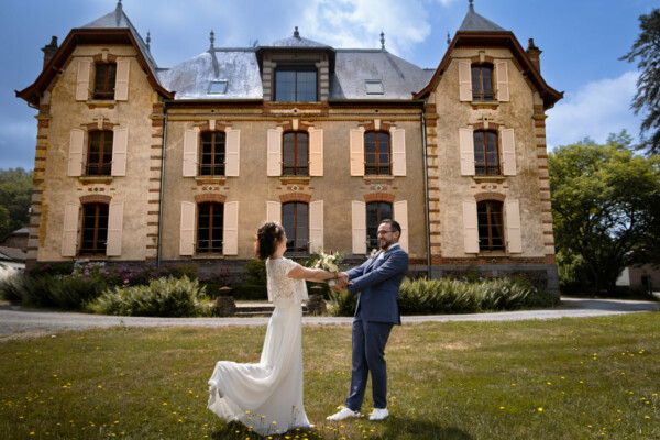
<path fill-rule="evenodd" d="M 436 68 L 468 12 L 468 0 L 123 0 L 138 31 L 152 37 L 161 67 L 185 62 L 209 47 L 245 47 L 290 36 L 334 47 L 380 47 L 420 67 Z M 0 0 L 0 168 L 32 168 L 36 110 L 15 98 L 41 73 L 41 47 L 62 43 L 79 28 L 114 10 L 117 0 Z M 604 142 L 639 117 L 629 110 L 636 64 L 619 61 L 639 34 L 639 15 L 658 0 L 474 0 L 477 13 L 529 38 L 543 51 L 541 74 L 564 99 L 548 111 L 550 147 L 590 136 Z"/>

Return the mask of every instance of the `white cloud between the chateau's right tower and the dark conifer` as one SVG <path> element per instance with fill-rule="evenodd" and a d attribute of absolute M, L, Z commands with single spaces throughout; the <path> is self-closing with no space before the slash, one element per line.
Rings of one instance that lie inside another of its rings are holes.
<path fill-rule="evenodd" d="M 573 144 L 587 136 L 603 143 L 610 133 L 623 129 L 637 140 L 639 118 L 630 110 L 637 77 L 637 72 L 627 72 L 618 78 L 588 82 L 575 92 L 566 92 L 548 111 L 548 147 Z"/>

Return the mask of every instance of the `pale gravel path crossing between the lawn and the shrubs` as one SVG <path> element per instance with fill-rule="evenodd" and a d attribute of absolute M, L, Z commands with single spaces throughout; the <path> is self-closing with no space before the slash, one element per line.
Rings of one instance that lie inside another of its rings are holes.
<path fill-rule="evenodd" d="M 525 319 L 583 318 L 660 310 L 660 302 L 618 299 L 562 298 L 558 308 L 497 314 L 435 315 L 403 317 L 404 323 L 447 321 L 518 321 Z M 0 305 L 0 341 L 50 336 L 67 330 L 128 327 L 224 327 L 265 326 L 268 318 L 141 318 L 58 312 Z M 352 318 L 305 317 L 302 323 L 350 324 Z"/>

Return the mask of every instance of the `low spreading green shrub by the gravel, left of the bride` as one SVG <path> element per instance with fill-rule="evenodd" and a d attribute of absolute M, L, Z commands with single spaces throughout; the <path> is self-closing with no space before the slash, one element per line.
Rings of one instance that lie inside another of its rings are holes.
<path fill-rule="evenodd" d="M 105 315 L 194 317 L 207 316 L 209 307 L 201 302 L 204 286 L 187 276 L 158 278 L 148 286 L 113 287 L 88 305 Z"/>

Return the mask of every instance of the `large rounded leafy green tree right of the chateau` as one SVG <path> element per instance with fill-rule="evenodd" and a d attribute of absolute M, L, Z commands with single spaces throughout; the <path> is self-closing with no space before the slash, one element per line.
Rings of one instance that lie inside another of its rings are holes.
<path fill-rule="evenodd" d="M 631 143 L 624 130 L 548 155 L 558 254 L 586 268 L 594 293 L 612 293 L 626 266 L 660 263 L 660 156 Z"/>

